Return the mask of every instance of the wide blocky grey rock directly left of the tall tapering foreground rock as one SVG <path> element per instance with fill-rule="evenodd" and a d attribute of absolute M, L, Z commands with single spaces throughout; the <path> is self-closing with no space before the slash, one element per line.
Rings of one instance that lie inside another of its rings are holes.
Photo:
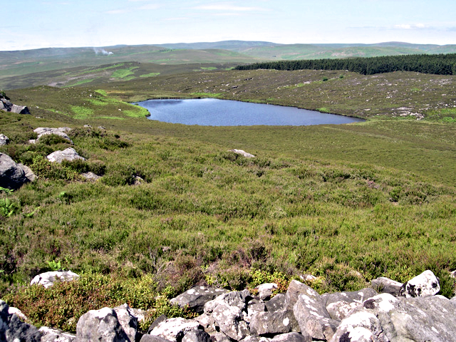
<path fill-rule="evenodd" d="M 250 319 L 250 331 L 255 335 L 276 335 L 299 332 L 299 324 L 293 311 L 282 309 L 274 312 L 259 312 Z"/>

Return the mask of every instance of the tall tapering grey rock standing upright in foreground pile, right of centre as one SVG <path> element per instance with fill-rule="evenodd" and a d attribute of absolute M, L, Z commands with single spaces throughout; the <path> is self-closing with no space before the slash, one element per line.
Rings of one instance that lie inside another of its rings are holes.
<path fill-rule="evenodd" d="M 335 321 L 329 316 L 320 295 L 309 286 L 304 293 L 298 296 L 293 311 L 301 333 L 305 336 L 310 335 L 312 338 L 329 340 L 336 332 L 339 321 Z"/>

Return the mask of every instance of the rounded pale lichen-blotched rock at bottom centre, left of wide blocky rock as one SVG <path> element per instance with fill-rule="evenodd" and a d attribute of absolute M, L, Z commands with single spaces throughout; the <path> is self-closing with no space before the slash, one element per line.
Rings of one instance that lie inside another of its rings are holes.
<path fill-rule="evenodd" d="M 222 295 L 223 296 L 223 295 Z M 212 311 L 216 326 L 229 338 L 242 340 L 250 334 L 247 322 L 243 320 L 242 310 L 227 303 L 217 305 Z"/>

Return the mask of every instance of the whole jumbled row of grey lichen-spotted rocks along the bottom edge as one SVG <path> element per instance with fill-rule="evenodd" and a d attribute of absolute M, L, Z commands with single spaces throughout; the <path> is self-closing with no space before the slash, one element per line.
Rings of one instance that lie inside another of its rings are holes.
<path fill-rule="evenodd" d="M 140 314 L 127 304 L 89 311 L 72 335 L 23 323 L 0 301 L 0 341 L 456 341 L 456 297 L 436 295 L 440 285 L 431 271 L 405 284 L 379 278 L 372 286 L 375 289 L 319 295 L 294 280 L 285 294 L 272 297 L 274 284 L 259 286 L 258 296 L 248 290 L 195 286 L 172 302 L 200 316 L 162 316 L 144 335 L 138 332 Z"/>

